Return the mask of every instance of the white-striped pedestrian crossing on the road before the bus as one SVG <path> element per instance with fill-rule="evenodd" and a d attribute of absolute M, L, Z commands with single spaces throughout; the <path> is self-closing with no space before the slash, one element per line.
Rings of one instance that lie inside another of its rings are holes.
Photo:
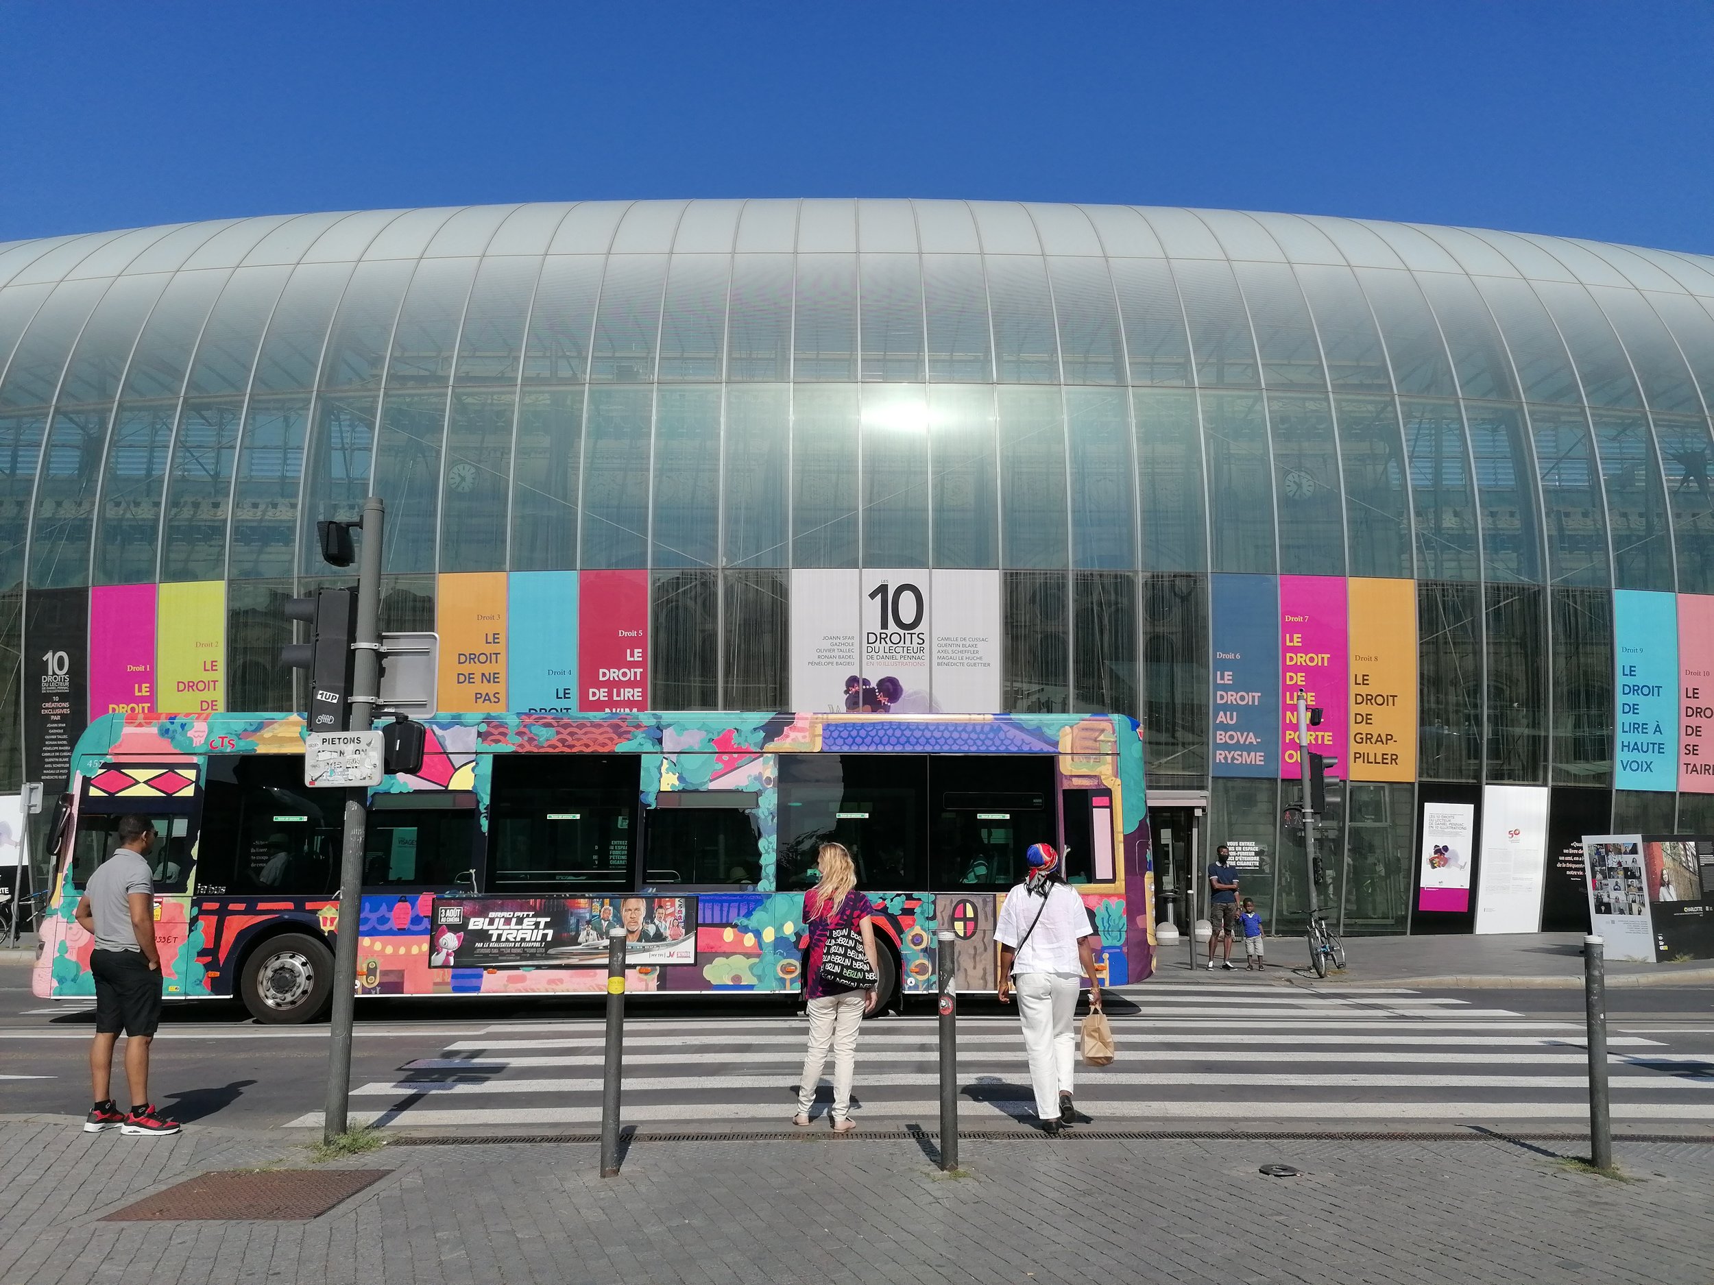
<path fill-rule="evenodd" d="M 1224 980 L 1224 978 L 1222 978 Z M 1150 982 L 1121 992 L 1111 1021 L 1119 1055 L 1078 1066 L 1076 1102 L 1097 1126 L 1176 1127 L 1325 1121 L 1455 1124 L 1587 1119 L 1582 1021 L 1479 1007 L 1455 995 L 1318 992 L 1220 980 Z M 1131 1011 L 1135 1006 L 1135 1011 Z M 629 1124 L 775 1127 L 795 1110 L 807 1025 L 802 1018 L 632 1016 L 624 1042 L 622 1119 Z M 1714 1121 L 1714 1050 L 1611 1030 L 1613 1119 Z M 600 1121 L 603 1037 L 588 1021 L 464 1026 L 437 1055 L 351 1090 L 353 1122 L 417 1129 L 530 1129 Z M 830 1102 L 831 1064 L 816 1114 Z M 1034 1119 L 1016 1016 L 958 1021 L 960 1122 Z M 934 1127 L 938 1033 L 932 1016 L 866 1023 L 852 1115 Z M 321 1127 L 321 1112 L 297 1127 Z"/>

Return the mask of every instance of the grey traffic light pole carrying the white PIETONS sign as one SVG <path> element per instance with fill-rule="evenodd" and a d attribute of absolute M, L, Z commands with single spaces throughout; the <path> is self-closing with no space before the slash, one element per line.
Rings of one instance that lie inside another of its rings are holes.
<path fill-rule="evenodd" d="M 369 732 L 381 696 L 381 531 L 386 505 L 379 495 L 363 502 L 363 553 L 357 576 L 357 651 L 346 732 Z M 357 1009 L 357 942 L 363 913 L 363 838 L 369 826 L 369 792 L 345 798 L 345 846 L 339 857 L 339 932 L 333 956 L 333 1030 L 327 1038 L 327 1109 L 322 1136 L 333 1141 L 346 1131 L 351 1098 L 351 1018 Z"/>

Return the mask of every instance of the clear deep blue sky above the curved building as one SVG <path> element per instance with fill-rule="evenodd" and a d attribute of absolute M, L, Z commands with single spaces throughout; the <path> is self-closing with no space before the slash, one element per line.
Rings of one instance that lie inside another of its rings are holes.
<path fill-rule="evenodd" d="M 1714 5 L 0 7 L 0 240 L 502 200 L 1231 206 L 1714 252 Z"/>

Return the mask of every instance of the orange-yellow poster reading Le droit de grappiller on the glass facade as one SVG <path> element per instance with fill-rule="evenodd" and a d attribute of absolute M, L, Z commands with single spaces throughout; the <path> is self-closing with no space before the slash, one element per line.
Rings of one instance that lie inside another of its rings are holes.
<path fill-rule="evenodd" d="M 1416 780 L 1416 581 L 1352 579 L 1351 780 Z"/>

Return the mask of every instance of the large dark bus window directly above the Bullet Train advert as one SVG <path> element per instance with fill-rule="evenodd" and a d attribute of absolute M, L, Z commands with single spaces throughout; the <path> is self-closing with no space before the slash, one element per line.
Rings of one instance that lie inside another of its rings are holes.
<path fill-rule="evenodd" d="M 488 879 L 495 893 L 624 888 L 636 840 L 641 757 L 502 754 L 488 804 Z"/>

